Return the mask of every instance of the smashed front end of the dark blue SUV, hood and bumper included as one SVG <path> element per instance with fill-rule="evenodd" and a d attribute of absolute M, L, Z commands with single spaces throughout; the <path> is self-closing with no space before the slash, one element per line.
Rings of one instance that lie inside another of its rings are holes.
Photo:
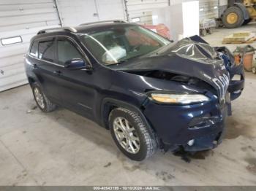
<path fill-rule="evenodd" d="M 136 74 L 145 83 L 148 98 L 143 102 L 143 114 L 165 151 L 217 147 L 222 142 L 225 119 L 231 114 L 231 101 L 244 89 L 243 66 L 234 64 L 227 48 L 211 47 L 199 36 L 182 39 L 120 70 Z M 240 79 L 233 79 L 237 75 Z M 156 101 L 152 93 L 167 94 L 169 100 L 179 93 L 184 97 L 204 95 L 208 100 L 170 104 L 162 103 L 162 98 Z"/>

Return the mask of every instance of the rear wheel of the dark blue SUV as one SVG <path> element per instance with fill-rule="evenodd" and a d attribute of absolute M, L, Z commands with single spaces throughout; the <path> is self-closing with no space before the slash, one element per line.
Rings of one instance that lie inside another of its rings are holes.
<path fill-rule="evenodd" d="M 42 88 L 37 83 L 33 83 L 31 87 L 34 95 L 34 101 L 36 101 L 37 106 L 42 110 L 42 112 L 52 112 L 56 109 L 56 104 L 50 102 L 45 93 L 42 92 Z M 39 95 L 37 95 L 37 93 L 39 93 Z"/>

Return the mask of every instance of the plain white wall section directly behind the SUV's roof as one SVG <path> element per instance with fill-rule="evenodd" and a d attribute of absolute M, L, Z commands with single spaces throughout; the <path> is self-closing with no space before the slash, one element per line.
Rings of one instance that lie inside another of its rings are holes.
<path fill-rule="evenodd" d="M 63 26 L 125 19 L 123 0 L 56 0 Z"/>

